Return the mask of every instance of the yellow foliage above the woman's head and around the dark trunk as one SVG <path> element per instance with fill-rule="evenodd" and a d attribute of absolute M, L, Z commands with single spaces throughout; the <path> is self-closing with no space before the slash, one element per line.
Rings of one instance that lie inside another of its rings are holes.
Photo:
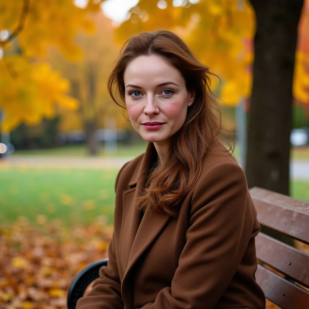
<path fill-rule="evenodd" d="M 305 0 L 302 18 L 308 17 L 308 8 L 309 0 Z M 221 84 L 218 81 L 213 83 L 212 89 L 220 86 L 219 96 L 223 105 L 236 106 L 242 98 L 251 96 L 251 66 L 254 60 L 251 45 L 256 19 L 248 0 L 140 0 L 128 17 L 117 29 L 119 44 L 142 31 L 175 31 L 222 79 Z M 302 31 L 299 31 L 301 35 Z M 308 57 L 300 51 L 296 53 L 293 95 L 309 103 Z"/>

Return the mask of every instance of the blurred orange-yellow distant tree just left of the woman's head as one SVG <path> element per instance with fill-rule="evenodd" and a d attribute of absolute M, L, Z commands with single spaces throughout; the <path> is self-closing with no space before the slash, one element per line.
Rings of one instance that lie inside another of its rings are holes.
<path fill-rule="evenodd" d="M 71 83 L 71 95 L 80 102 L 77 111 L 59 108 L 61 122 L 59 130 L 83 129 L 89 153 L 99 151 L 96 131 L 108 127 L 106 118 L 113 118 L 117 128 L 123 129 L 128 124 L 119 108 L 112 101 L 107 90 L 107 78 L 111 71 L 119 47 L 114 43 L 112 21 L 102 11 L 88 15 L 95 24 L 95 33 L 91 36 L 78 32 L 75 42 L 83 50 L 79 62 L 71 62 L 57 50 L 49 52 L 48 61 Z"/>

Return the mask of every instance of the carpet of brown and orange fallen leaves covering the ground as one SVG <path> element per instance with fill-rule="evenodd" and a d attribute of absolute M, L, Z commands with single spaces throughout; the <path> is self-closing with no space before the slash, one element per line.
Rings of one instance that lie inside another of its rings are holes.
<path fill-rule="evenodd" d="M 0 309 L 65 309 L 76 274 L 107 257 L 113 226 L 105 225 L 104 216 L 70 229 L 42 216 L 38 225 L 19 217 L 0 227 Z M 296 246 L 309 253 L 309 246 Z M 266 308 L 279 307 L 267 301 Z"/>

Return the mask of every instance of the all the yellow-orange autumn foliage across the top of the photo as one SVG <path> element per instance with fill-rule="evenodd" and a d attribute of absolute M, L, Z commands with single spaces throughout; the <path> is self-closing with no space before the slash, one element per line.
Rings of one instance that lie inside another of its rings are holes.
<path fill-rule="evenodd" d="M 100 113 L 115 115 L 117 126 L 126 126 L 105 87 L 110 63 L 117 54 L 110 38 L 113 29 L 104 21 L 101 31 L 96 32 L 102 16 L 99 22 L 89 15 L 100 11 L 102 1 L 89 0 L 85 7 L 78 7 L 73 0 L 0 0 L 0 110 L 5 112 L 2 132 L 10 132 L 21 122 L 36 125 L 57 112 L 64 119 L 62 131 L 82 128 L 81 112 L 85 119 L 94 119 Z M 308 8 L 309 0 L 305 0 L 302 19 L 309 18 Z M 122 45 L 133 34 L 162 28 L 182 36 L 197 57 L 221 78 L 221 83 L 211 79 L 222 104 L 235 106 L 242 98 L 250 97 L 256 21 L 248 0 L 140 0 L 129 11 L 128 20 L 116 29 L 115 40 Z M 304 24 L 300 36 L 305 29 Z M 92 39 L 88 40 L 87 35 Z M 102 36 L 104 40 L 99 40 Z M 87 49 L 87 44 L 92 47 Z M 52 62 L 48 58 L 51 45 L 67 61 L 77 63 L 79 98 L 68 95 L 74 71 L 66 74 L 64 66 L 55 70 L 54 63 L 48 64 Z M 293 95 L 304 103 L 309 102 L 308 58 L 303 50 L 296 53 Z M 105 68 L 96 76 L 98 91 L 91 100 L 85 80 L 85 67 L 90 63 Z M 100 119 L 99 126 L 102 124 Z"/>

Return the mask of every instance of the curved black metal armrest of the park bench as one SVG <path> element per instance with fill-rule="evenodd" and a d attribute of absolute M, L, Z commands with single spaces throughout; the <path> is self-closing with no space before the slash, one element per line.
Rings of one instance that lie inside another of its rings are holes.
<path fill-rule="evenodd" d="M 79 298 L 83 297 L 83 294 L 87 286 L 99 278 L 99 269 L 102 266 L 107 266 L 108 258 L 95 261 L 85 268 L 83 268 L 73 279 L 67 298 L 68 309 L 75 309 L 76 303 Z"/>

